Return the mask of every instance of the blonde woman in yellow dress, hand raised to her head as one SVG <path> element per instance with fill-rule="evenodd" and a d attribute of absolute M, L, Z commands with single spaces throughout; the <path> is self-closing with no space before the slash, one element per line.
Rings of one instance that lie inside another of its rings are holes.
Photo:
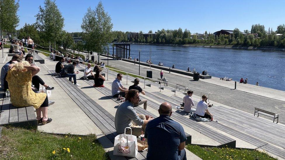
<path fill-rule="evenodd" d="M 39 71 L 39 67 L 30 66 L 29 62 L 22 61 L 11 66 L 6 80 L 9 85 L 13 106 L 34 106 L 38 122 L 46 124 L 52 121 L 51 118 L 48 118 L 48 97 L 45 93 L 35 93 L 31 87 L 32 77 Z M 41 117 L 41 112 L 43 117 Z"/>

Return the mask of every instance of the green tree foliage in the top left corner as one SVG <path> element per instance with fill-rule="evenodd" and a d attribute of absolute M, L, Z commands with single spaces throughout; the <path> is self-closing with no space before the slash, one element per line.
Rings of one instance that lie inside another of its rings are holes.
<path fill-rule="evenodd" d="M 19 1 L 15 0 L 0 0 L 0 29 L 1 36 L 3 31 L 12 32 L 19 25 Z"/>

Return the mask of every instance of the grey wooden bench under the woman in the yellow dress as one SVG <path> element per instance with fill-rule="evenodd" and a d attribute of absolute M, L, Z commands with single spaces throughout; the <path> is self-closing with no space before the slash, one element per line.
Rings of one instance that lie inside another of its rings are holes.
<path fill-rule="evenodd" d="M 4 93 L 1 93 L 0 96 L 5 97 Z M 4 98 L 0 102 L 0 126 L 37 128 L 37 119 L 33 106 L 14 107 L 10 100 Z"/>

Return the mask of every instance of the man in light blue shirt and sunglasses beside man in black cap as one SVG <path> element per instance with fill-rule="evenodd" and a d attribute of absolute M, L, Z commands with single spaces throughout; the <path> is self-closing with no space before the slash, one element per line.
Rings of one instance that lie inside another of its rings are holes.
<path fill-rule="evenodd" d="M 117 74 L 117 78 L 112 83 L 112 96 L 118 98 L 118 96 L 125 97 L 125 94 L 128 93 L 128 89 L 124 87 L 121 83 L 123 75 L 121 73 Z"/>

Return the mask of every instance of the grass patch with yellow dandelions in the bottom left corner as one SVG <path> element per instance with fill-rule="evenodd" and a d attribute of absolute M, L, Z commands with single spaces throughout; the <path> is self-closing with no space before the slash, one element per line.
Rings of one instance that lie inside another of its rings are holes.
<path fill-rule="evenodd" d="M 0 159 L 109 159 L 95 136 L 2 128 Z"/>

